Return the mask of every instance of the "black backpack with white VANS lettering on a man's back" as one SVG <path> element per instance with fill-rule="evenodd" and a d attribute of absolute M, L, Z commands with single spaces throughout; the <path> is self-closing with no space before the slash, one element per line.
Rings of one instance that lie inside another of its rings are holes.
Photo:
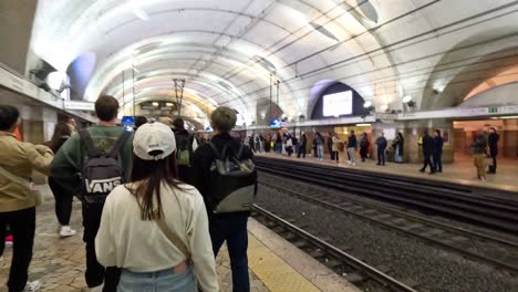
<path fill-rule="evenodd" d="M 107 195 L 116 186 L 126 182 L 124 168 L 118 161 L 118 153 L 131 133 L 124 131 L 107 154 L 95 148 L 92 136 L 86 129 L 80 129 L 79 135 L 81 140 L 85 143 L 87 150 L 87 158 L 81 176 L 82 200 L 86 204 L 104 204 Z"/>

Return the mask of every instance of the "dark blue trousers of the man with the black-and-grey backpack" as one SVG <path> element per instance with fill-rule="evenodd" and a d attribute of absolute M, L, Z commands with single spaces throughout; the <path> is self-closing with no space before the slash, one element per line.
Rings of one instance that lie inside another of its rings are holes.
<path fill-rule="evenodd" d="M 250 291 L 247 257 L 247 221 L 248 215 L 245 212 L 209 217 L 209 232 L 215 257 L 218 255 L 222 243 L 227 241 L 227 249 L 230 255 L 230 269 L 232 271 L 234 292 Z"/>

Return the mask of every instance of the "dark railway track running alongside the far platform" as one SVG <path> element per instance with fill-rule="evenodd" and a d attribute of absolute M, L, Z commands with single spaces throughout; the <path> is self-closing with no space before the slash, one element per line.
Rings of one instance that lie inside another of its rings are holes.
<path fill-rule="evenodd" d="M 518 234 L 518 201 L 465 186 L 257 157 L 258 170 Z"/>

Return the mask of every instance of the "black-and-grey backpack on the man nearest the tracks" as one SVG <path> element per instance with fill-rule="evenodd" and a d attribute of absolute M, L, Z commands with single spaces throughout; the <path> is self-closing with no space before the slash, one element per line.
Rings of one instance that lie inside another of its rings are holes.
<path fill-rule="evenodd" d="M 219 153 L 216 145 L 208 144 L 216 154 L 209 175 L 209 208 L 215 213 L 250 211 L 256 199 L 257 170 L 252 159 L 241 159 L 244 144 L 237 154 L 228 145 Z"/>

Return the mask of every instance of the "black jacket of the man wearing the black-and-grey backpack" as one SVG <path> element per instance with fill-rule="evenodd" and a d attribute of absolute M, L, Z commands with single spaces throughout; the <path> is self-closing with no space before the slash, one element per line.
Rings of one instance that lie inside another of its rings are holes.
<path fill-rule="evenodd" d="M 216 148 L 221 152 L 225 145 L 228 145 L 236 154 L 239 152 L 241 142 L 235 139 L 229 134 L 218 134 L 213 137 L 210 140 Z M 240 159 L 252 159 L 253 153 L 250 150 L 250 147 L 244 146 L 245 149 Z M 210 181 L 207 179 L 210 177 L 210 166 L 214 160 L 216 160 L 216 154 L 208 144 L 199 146 L 193 157 L 193 185 L 198 189 L 205 200 L 205 205 L 209 201 L 210 196 Z M 256 177 L 256 189 L 257 189 L 257 177 Z M 248 216 L 248 212 L 236 212 L 236 213 L 218 213 L 214 215 L 210 210 L 207 210 L 209 217 L 231 217 L 231 216 Z"/>

